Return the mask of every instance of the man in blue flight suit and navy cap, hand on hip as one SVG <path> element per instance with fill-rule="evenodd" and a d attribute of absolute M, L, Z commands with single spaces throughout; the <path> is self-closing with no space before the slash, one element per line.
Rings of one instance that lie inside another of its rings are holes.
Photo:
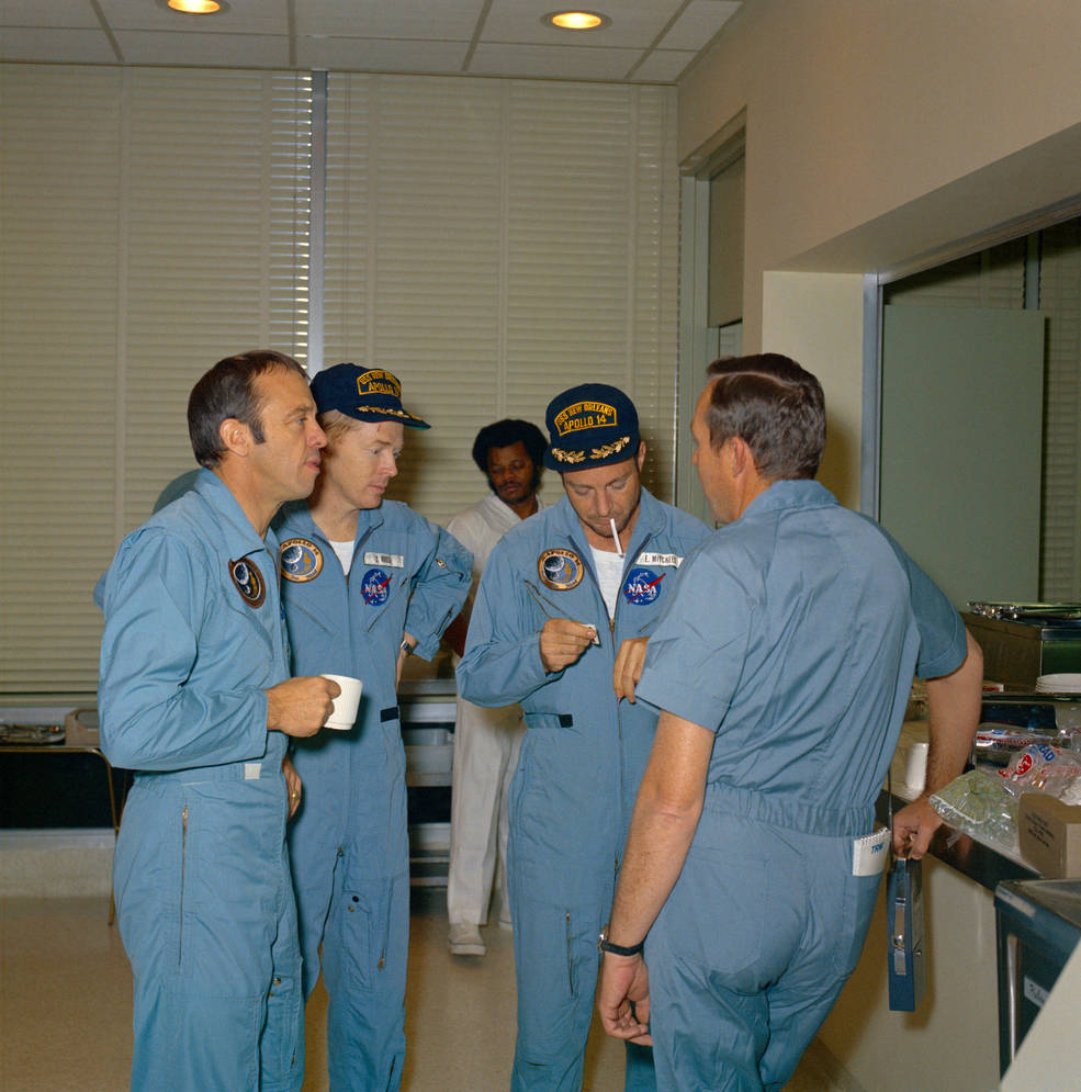
<path fill-rule="evenodd" d="M 404 428 L 390 372 L 337 364 L 312 381 L 327 432 L 308 504 L 279 526 L 282 599 L 295 671 L 360 678 L 348 732 L 300 742 L 305 802 L 290 833 L 304 995 L 329 993 L 330 1087 L 396 1089 L 405 1058 L 409 846 L 405 751 L 395 694 L 410 652 L 430 660 L 462 608 L 472 558 L 455 539 L 384 500 Z"/>

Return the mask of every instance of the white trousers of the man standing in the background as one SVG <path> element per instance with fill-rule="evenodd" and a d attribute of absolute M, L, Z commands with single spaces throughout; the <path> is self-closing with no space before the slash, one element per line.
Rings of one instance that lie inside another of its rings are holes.
<path fill-rule="evenodd" d="M 507 795 L 523 731 L 518 706 L 483 709 L 458 699 L 447 878 L 447 916 L 452 925 L 487 923 L 497 862 L 499 915 L 510 920 Z"/>

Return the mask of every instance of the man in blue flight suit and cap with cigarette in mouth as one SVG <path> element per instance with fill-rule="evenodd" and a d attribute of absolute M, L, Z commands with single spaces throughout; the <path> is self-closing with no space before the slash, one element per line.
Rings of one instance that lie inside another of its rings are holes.
<path fill-rule="evenodd" d="M 655 711 L 633 698 L 684 555 L 707 532 L 641 484 L 645 444 L 622 391 L 585 383 L 548 407 L 545 465 L 566 495 L 492 551 L 458 668 L 462 696 L 521 705 L 510 789 L 518 980 L 514 1089 L 577 1090 L 604 924 Z M 626 1087 L 653 1088 L 628 1046 Z"/>

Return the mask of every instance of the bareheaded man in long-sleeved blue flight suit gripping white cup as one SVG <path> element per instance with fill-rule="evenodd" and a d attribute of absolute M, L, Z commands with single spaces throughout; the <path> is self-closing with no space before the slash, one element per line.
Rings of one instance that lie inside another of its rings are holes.
<path fill-rule="evenodd" d="M 215 364 L 188 421 L 204 469 L 99 585 L 101 745 L 135 770 L 113 865 L 135 976 L 132 1088 L 296 1090 L 285 822 L 300 785 L 285 744 L 318 731 L 338 686 L 289 677 L 268 526 L 311 493 L 326 437 L 303 371 L 275 352 Z"/>

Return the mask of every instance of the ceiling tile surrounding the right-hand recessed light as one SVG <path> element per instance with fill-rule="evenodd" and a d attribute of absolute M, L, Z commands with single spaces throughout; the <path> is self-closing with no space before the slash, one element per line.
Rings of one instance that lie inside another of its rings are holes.
<path fill-rule="evenodd" d="M 484 43 L 529 43 L 575 48 L 621 46 L 646 49 L 679 10 L 683 0 L 587 0 L 586 11 L 596 11 L 611 19 L 610 26 L 595 31 L 563 31 L 541 22 L 541 16 L 559 11 L 559 0 L 493 0 L 484 21 L 481 41 Z"/>

